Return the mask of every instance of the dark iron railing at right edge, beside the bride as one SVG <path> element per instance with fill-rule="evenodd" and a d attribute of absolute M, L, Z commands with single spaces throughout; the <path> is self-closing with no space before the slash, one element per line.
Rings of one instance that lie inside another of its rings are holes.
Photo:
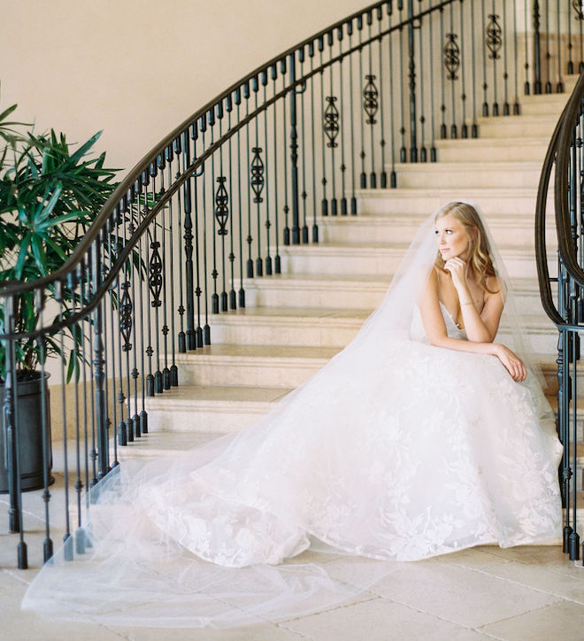
<path fill-rule="evenodd" d="M 580 559 L 578 511 L 584 495 L 582 416 L 579 407 L 580 332 L 584 330 L 584 73 L 580 74 L 549 143 L 538 189 L 535 250 L 542 305 L 556 324 L 557 426 L 564 444 L 560 482 L 565 506 L 564 552 Z M 549 275 L 546 197 L 555 164 L 557 276 Z M 580 506 L 581 507 L 581 506 Z M 584 550 L 582 552 L 584 558 Z"/>

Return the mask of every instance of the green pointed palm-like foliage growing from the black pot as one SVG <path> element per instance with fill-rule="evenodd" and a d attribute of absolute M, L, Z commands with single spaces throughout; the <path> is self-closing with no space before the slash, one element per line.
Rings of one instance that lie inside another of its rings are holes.
<path fill-rule="evenodd" d="M 0 281 L 31 282 L 54 273 L 74 251 L 108 197 L 117 186 L 116 169 L 104 166 L 105 154 L 91 151 L 101 132 L 79 146 L 52 129 L 36 135 L 29 125 L 9 121 L 12 105 L 0 113 Z M 55 296 L 55 290 L 47 292 Z M 66 288 L 63 293 L 68 313 Z M 34 331 L 38 321 L 34 294 L 15 301 L 15 329 Z M 4 308 L 0 333 L 4 332 Z M 80 344 L 73 328 L 68 339 Z M 66 359 L 58 336 L 44 344 L 24 339 L 16 344 L 17 370 L 32 372 L 39 359 L 58 354 Z M 74 364 L 68 359 L 68 378 Z M 0 344 L 0 376 L 5 373 L 4 343 Z"/>

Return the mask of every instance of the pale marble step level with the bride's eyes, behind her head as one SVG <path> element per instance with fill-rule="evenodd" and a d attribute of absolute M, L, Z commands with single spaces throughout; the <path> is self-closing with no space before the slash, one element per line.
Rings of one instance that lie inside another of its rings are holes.
<path fill-rule="evenodd" d="M 320 243 L 409 243 L 426 220 L 423 213 L 327 216 L 317 218 Z M 488 216 L 488 228 L 497 245 L 534 246 L 534 212 L 497 212 Z M 548 241 L 555 242 L 555 225 L 547 217 Z"/>

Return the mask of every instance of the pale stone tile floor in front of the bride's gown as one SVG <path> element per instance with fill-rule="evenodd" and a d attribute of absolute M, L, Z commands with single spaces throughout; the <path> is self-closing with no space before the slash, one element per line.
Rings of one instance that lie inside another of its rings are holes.
<path fill-rule="evenodd" d="M 150 436 L 150 435 L 149 435 Z M 155 439 L 152 439 L 153 441 Z M 156 448 L 155 448 L 156 449 Z M 56 456 L 57 505 L 63 491 Z M 431 560 L 397 564 L 357 599 L 318 614 L 239 629 L 146 629 L 46 621 L 20 611 L 27 583 L 41 563 L 42 500 L 25 495 L 30 569 L 16 569 L 15 535 L 7 533 L 6 495 L 0 496 L 0 640 L 2 641 L 462 641 L 584 639 L 584 568 L 557 545 L 502 550 L 482 546 Z M 57 518 L 57 517 L 54 517 Z M 72 529 L 74 524 L 72 523 Z M 59 535 L 52 535 L 58 544 Z M 305 555 L 310 556 L 310 552 Z M 300 558 L 298 558 L 300 560 Z"/>

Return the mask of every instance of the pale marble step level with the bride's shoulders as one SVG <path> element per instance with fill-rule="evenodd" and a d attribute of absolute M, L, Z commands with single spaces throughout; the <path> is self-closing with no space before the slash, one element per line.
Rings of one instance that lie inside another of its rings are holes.
<path fill-rule="evenodd" d="M 383 300 L 393 274 L 274 274 L 244 279 L 246 304 L 250 306 L 342 307 L 373 310 Z M 237 282 L 239 283 L 239 281 Z M 522 313 L 541 313 L 537 280 L 513 282 Z"/>

